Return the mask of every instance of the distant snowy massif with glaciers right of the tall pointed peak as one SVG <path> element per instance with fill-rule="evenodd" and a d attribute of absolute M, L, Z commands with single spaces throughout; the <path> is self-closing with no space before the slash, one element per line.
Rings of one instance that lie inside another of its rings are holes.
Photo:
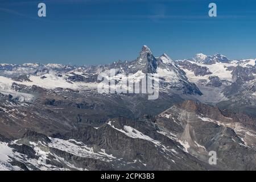
<path fill-rule="evenodd" d="M 255 93 L 251 91 L 256 81 L 254 59 L 229 60 L 218 54 L 207 56 L 204 61 L 188 59 L 177 64 L 203 93 L 197 100 L 254 115 L 251 111 L 255 108 Z"/>

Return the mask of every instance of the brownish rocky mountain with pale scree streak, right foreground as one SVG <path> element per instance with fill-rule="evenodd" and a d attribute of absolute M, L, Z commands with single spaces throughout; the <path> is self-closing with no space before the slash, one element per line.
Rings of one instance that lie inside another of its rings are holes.
<path fill-rule="evenodd" d="M 250 119 L 231 113 L 231 111 L 220 111 L 217 107 L 207 106 L 199 102 L 185 101 L 183 104 L 172 107 L 166 113 L 162 113 L 162 117 L 165 114 L 170 115 L 168 119 L 171 122 L 175 121 L 174 125 L 178 124 L 183 129 L 175 129 L 173 126 L 167 127 L 162 122 L 160 123 L 163 130 L 171 130 L 172 134 L 186 140 L 190 146 L 188 151 L 199 156 L 200 159 L 204 160 L 203 153 L 205 151 L 216 151 L 218 156 L 216 167 L 254 169 L 256 167 L 255 148 L 251 147 L 249 143 L 246 144 L 246 140 L 252 142 L 252 146 L 255 143 L 247 135 L 248 138 L 245 139 L 245 135 L 236 127 L 239 125 L 243 129 L 246 127 L 251 129 L 248 126 Z M 205 149 L 200 150 L 203 148 L 198 144 Z M 250 162 L 247 159 L 250 159 Z"/>

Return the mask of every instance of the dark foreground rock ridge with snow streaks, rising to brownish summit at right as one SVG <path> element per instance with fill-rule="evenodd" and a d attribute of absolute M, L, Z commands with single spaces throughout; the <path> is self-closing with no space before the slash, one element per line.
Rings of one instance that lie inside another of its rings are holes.
<path fill-rule="evenodd" d="M 185 101 L 155 117 L 112 118 L 98 127 L 80 124 L 51 138 L 27 131 L 9 144 L 22 154 L 10 155 L 10 164 L 24 170 L 45 165 L 60 170 L 253 170 L 255 128 L 245 115 Z M 209 151 L 216 151 L 216 165 L 208 163 Z"/>

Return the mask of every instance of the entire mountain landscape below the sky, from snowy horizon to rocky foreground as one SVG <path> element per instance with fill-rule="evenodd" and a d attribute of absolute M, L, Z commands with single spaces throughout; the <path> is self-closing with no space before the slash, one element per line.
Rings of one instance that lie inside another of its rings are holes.
<path fill-rule="evenodd" d="M 255 61 L 143 46 L 106 65 L 0 64 L 0 169 L 255 169 Z M 117 84 L 157 75 L 159 97 L 98 93 L 102 73 Z"/>

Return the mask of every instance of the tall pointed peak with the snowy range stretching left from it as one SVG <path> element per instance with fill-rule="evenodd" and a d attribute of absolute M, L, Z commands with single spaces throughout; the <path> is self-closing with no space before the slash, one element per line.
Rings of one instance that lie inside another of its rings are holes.
<path fill-rule="evenodd" d="M 60 64 L 23 64 L 15 65 L 11 69 L 3 69 L 0 76 L 11 84 L 22 84 L 26 86 L 36 85 L 45 89 L 74 89 L 88 90 L 97 88 L 97 76 L 100 73 L 109 75 L 110 69 L 115 69 L 114 78 L 122 82 L 122 77 L 132 74 L 131 78 L 146 76 L 147 73 L 158 74 L 160 78 L 160 89 L 169 94 L 201 94 L 195 84 L 188 81 L 185 73 L 177 67 L 175 61 L 163 54 L 154 57 L 147 46 L 142 47 L 137 60 L 130 62 L 119 61 L 109 65 L 94 67 L 72 67 Z M 138 80 L 139 81 L 139 80 Z"/>

